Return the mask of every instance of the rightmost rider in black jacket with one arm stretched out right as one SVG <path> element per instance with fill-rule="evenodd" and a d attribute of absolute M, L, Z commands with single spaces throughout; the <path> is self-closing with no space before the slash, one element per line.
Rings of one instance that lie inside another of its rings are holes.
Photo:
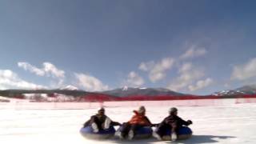
<path fill-rule="evenodd" d="M 158 138 L 158 140 L 162 140 L 162 136 L 166 133 L 166 130 L 169 129 L 171 131 L 171 140 L 176 141 L 178 129 L 182 126 L 189 126 L 191 124 L 191 120 L 184 121 L 182 118 L 179 118 L 178 109 L 176 107 L 172 107 L 169 110 L 169 116 L 164 118 L 164 120 L 158 125 L 153 136 Z"/>

